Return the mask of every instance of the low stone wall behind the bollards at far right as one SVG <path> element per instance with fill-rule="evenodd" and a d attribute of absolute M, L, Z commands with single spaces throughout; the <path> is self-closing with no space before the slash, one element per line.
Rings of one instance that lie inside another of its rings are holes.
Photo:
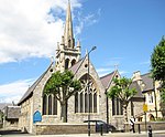
<path fill-rule="evenodd" d="M 135 125 L 134 125 L 135 131 L 139 131 L 139 125 L 140 125 L 141 131 L 145 131 L 145 123 L 144 122 L 135 123 Z M 165 122 L 146 122 L 146 129 L 148 126 L 152 127 L 152 130 L 164 130 Z M 130 131 L 130 128 L 131 128 L 130 124 L 125 124 L 125 131 Z"/>

